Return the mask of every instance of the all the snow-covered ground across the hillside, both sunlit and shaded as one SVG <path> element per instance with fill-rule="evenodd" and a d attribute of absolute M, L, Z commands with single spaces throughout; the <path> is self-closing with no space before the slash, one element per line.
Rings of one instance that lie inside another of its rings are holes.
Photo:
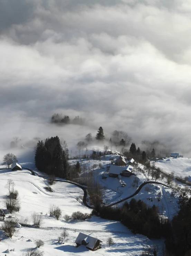
<path fill-rule="evenodd" d="M 0 152 L 2 156 L 7 152 Z M 37 174 L 40 174 L 34 164 L 34 150 L 32 149 L 19 149 L 15 150 L 18 156 L 18 161 L 22 167 L 31 168 L 35 170 Z M 132 195 L 137 187 L 133 185 L 135 176 L 122 177 L 122 180 L 126 183 L 125 187 L 121 187 L 121 184 L 117 178 L 108 176 L 107 167 L 111 165 L 111 159 L 115 159 L 116 155 L 106 155 L 101 158 L 101 161 L 93 159 L 78 159 L 81 165 L 88 166 L 89 170 L 93 171 L 94 179 L 102 187 L 103 201 L 106 204 L 117 202 L 123 198 Z M 169 160 L 170 159 L 170 160 Z M 70 160 L 70 164 L 75 164 L 77 160 Z M 102 164 L 102 168 L 98 167 L 98 164 Z M 95 167 L 97 164 L 97 167 Z M 155 163 L 156 167 L 160 167 L 167 173 L 174 171 L 175 175 L 188 176 L 191 175 L 191 159 L 188 158 L 168 158 Z M 0 166 L 2 168 L 3 166 Z M 143 166 L 140 165 L 142 168 Z M 87 168 L 87 169 L 88 169 Z M 138 186 L 148 179 L 147 173 L 138 172 L 134 170 L 136 177 L 138 178 Z M 102 176 L 106 176 L 106 179 L 102 179 Z M 0 231 L 0 255 L 5 255 L 5 251 L 15 248 L 14 255 L 21 256 L 27 248 L 35 248 L 35 240 L 42 239 L 45 241 L 45 246 L 40 250 L 44 250 L 45 256 L 47 255 L 129 255 L 139 256 L 143 247 L 153 244 L 163 244 L 162 240 L 149 240 L 142 235 L 132 234 L 125 226 L 120 222 L 104 220 L 98 217 L 92 217 L 86 221 L 72 221 L 66 222 L 63 218 L 56 220 L 54 217 L 48 215 L 48 209 L 50 204 L 58 205 L 62 211 L 62 215 L 71 215 L 75 211 L 81 211 L 83 213 L 90 213 L 91 210 L 86 208 L 80 198 L 83 196 L 83 191 L 79 187 L 57 182 L 52 185 L 54 192 L 47 192 L 45 186 L 47 186 L 47 180 L 44 180 L 42 175 L 32 176 L 30 171 L 14 171 L 0 170 L 0 208 L 3 209 L 3 198 L 7 194 L 5 185 L 8 179 L 14 180 L 16 189 L 19 192 L 21 199 L 21 210 L 19 213 L 7 214 L 12 215 L 15 218 L 28 217 L 30 219 L 32 212 L 42 213 L 43 224 L 40 229 L 32 227 L 22 227 L 19 229 L 19 233 L 12 239 L 5 238 L 3 232 Z M 149 176 L 151 180 L 151 177 Z M 165 180 L 158 180 L 165 183 Z M 155 204 L 159 208 L 159 213 L 162 213 L 172 219 L 173 215 L 177 212 L 177 203 L 179 193 L 174 192 L 172 189 L 164 187 L 162 185 L 148 184 L 141 189 L 141 191 L 135 195 L 135 199 L 143 200 L 147 205 L 152 206 Z M 119 205 L 121 205 L 120 203 Z M 30 223 L 32 224 L 31 220 Z M 66 239 L 65 244 L 58 242 L 58 236 L 61 230 L 66 228 L 69 232 L 69 237 Z M 97 238 L 103 241 L 102 248 L 92 252 L 86 249 L 85 246 L 75 247 L 75 239 L 78 232 L 84 232 L 86 234 L 95 232 Z M 106 243 L 108 237 L 112 237 L 115 244 L 109 247 Z M 28 240 L 31 241 L 28 241 Z"/>

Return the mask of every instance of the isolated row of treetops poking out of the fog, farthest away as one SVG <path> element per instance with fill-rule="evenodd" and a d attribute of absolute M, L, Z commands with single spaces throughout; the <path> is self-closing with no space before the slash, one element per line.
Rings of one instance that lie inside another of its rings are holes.
<path fill-rule="evenodd" d="M 74 119 L 70 119 L 68 115 L 62 115 L 62 114 L 54 114 L 51 117 L 51 123 L 56 124 L 78 124 L 78 125 L 84 125 L 85 124 L 85 118 L 75 116 Z"/>

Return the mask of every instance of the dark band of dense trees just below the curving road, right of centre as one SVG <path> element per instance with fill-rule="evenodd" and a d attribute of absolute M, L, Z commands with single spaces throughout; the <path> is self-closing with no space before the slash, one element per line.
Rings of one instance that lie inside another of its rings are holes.
<path fill-rule="evenodd" d="M 143 201 L 136 201 L 134 198 L 130 203 L 125 202 L 121 208 L 96 206 L 92 214 L 104 219 L 121 221 L 133 233 L 148 237 L 168 237 L 171 232 L 169 221 L 161 221 L 155 205 L 147 207 Z"/>

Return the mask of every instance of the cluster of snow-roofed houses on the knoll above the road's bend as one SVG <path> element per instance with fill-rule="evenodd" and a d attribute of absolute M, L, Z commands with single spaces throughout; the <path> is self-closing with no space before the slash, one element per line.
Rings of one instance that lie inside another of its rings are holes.
<path fill-rule="evenodd" d="M 117 158 L 115 165 L 111 165 L 109 168 L 109 177 L 121 178 L 120 176 L 130 177 L 133 174 L 133 164 L 134 159 L 131 158 L 126 162 L 123 156 Z"/>

